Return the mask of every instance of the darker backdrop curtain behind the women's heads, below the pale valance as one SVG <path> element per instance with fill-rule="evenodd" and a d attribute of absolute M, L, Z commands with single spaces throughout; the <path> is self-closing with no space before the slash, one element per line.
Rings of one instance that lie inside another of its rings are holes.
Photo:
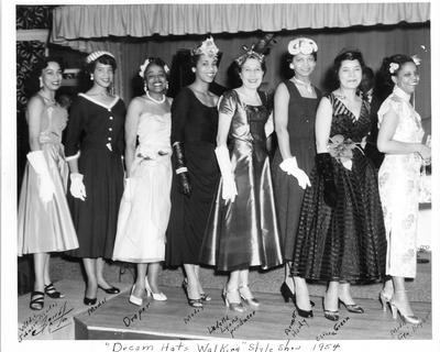
<path fill-rule="evenodd" d="M 213 34 L 216 44 L 223 53 L 216 81 L 222 86 L 231 87 L 228 68 L 232 61 L 243 53 L 242 46 L 256 43 L 263 33 Z M 375 73 L 381 67 L 386 56 L 396 53 L 407 55 L 419 55 L 421 65 L 418 67 L 420 82 L 416 92 L 416 109 L 421 117 L 431 116 L 431 43 L 430 25 L 393 25 L 352 29 L 320 29 L 297 30 L 276 32 L 274 40 L 276 44 L 266 57 L 267 73 L 264 82 L 268 88 L 275 88 L 279 81 L 290 78 L 292 70 L 288 67 L 287 44 L 298 36 L 307 36 L 315 40 L 319 46 L 318 62 L 312 76 L 314 85 L 323 92 L 329 91 L 327 74 L 333 58 L 343 47 L 358 47 L 363 53 L 365 64 Z M 160 56 L 173 69 L 173 61 L 178 48 L 190 48 L 198 42 L 204 41 L 207 35 L 184 36 L 157 36 L 143 40 L 125 40 L 122 45 L 122 62 L 120 63 L 123 75 L 123 97 L 125 102 L 140 94 L 143 94 L 143 82 L 139 77 L 139 67 L 145 58 Z M 424 46 L 424 47 L 422 47 Z"/>

